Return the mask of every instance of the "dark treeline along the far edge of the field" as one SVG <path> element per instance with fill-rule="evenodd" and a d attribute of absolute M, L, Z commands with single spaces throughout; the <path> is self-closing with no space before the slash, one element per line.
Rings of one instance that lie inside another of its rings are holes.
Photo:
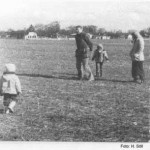
<path fill-rule="evenodd" d="M 51 22 L 50 24 L 36 24 L 35 26 L 30 25 L 29 28 L 25 28 L 23 30 L 13 30 L 9 29 L 8 31 L 1 31 L 1 38 L 16 38 L 23 39 L 25 35 L 29 32 L 36 32 L 39 37 L 48 37 L 48 38 L 57 38 L 59 36 L 67 36 L 70 37 L 74 34 L 76 26 L 69 26 L 65 29 L 61 29 L 60 23 L 58 21 Z M 105 28 L 99 28 L 95 25 L 87 25 L 83 26 L 83 30 L 92 35 L 92 37 L 96 36 L 110 36 L 111 38 L 126 38 L 129 33 L 133 30 L 129 30 L 128 32 L 122 32 L 122 30 L 118 31 L 107 31 Z M 150 28 L 143 29 L 140 31 L 143 37 L 150 37 Z"/>

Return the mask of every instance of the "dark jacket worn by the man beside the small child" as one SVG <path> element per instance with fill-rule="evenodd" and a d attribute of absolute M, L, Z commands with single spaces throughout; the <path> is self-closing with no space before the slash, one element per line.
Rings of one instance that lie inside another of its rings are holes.
<path fill-rule="evenodd" d="M 93 44 L 90 41 L 89 37 L 87 36 L 86 33 L 82 32 L 80 34 L 76 34 L 75 39 L 77 45 L 76 57 L 82 59 L 87 58 L 88 49 L 90 49 L 90 51 L 92 51 L 93 49 Z"/>

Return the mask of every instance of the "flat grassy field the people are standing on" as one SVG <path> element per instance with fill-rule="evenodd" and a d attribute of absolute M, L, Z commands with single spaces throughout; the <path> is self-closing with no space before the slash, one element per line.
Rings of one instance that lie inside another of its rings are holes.
<path fill-rule="evenodd" d="M 75 41 L 0 40 L 0 74 L 5 63 L 16 64 L 23 91 L 11 115 L 0 98 L 1 141 L 149 140 L 149 41 L 141 85 L 131 82 L 128 40 L 93 42 L 104 45 L 110 62 L 101 79 L 88 82 L 76 79 Z"/>

